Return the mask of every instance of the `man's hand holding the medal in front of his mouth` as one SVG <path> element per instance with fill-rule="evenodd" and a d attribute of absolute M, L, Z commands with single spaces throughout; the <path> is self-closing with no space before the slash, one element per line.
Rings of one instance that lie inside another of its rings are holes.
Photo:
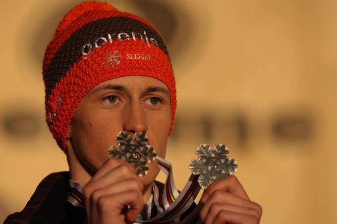
<path fill-rule="evenodd" d="M 132 223 L 144 206 L 143 187 L 132 165 L 107 160 L 84 187 L 88 222 Z"/>

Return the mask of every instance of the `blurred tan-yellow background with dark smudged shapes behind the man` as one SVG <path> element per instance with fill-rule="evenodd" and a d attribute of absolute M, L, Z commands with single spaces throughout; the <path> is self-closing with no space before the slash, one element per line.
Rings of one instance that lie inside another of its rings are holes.
<path fill-rule="evenodd" d="M 2 0 L 0 222 L 67 170 L 45 123 L 42 60 L 79 0 Z M 178 107 L 167 159 L 178 188 L 201 143 L 225 143 L 262 224 L 337 223 L 337 1 L 109 0 L 167 42 Z M 159 179 L 163 180 L 163 176 Z"/>

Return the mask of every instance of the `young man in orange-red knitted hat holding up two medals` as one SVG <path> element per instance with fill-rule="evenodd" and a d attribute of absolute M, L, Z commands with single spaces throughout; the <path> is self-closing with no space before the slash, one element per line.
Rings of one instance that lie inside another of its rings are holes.
<path fill-rule="evenodd" d="M 132 165 L 107 154 L 116 134 L 127 131 L 146 133 L 165 157 L 176 95 L 156 28 L 107 3 L 83 2 L 60 21 L 43 74 L 47 122 L 69 173 L 44 179 L 24 210 L 5 223 L 124 224 L 158 215 L 158 164 L 138 177 Z M 210 185 L 201 201 L 206 224 L 257 224 L 262 213 L 234 176 Z"/>

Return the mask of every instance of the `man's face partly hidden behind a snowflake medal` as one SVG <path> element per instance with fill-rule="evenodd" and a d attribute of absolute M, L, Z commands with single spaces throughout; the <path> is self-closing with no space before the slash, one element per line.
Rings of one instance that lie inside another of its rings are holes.
<path fill-rule="evenodd" d="M 154 78 L 127 76 L 101 83 L 90 90 L 76 108 L 69 133 L 81 166 L 93 175 L 109 158 L 119 131 L 146 132 L 157 154 L 165 157 L 171 124 L 167 86 Z M 149 185 L 159 172 L 148 164 L 141 181 Z"/>

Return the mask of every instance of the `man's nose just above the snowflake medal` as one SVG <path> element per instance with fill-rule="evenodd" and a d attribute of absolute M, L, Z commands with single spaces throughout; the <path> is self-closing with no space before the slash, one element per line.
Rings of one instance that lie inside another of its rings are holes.
<path fill-rule="evenodd" d="M 123 131 L 147 132 L 146 114 L 138 103 L 131 104 L 125 111 Z"/>

